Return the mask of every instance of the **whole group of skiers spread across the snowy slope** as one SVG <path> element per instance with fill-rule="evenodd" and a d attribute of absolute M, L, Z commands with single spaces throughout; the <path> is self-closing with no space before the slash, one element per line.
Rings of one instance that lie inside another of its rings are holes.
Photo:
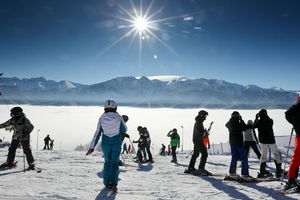
<path fill-rule="evenodd" d="M 193 130 L 193 155 L 189 162 L 189 167 L 186 173 L 195 173 L 199 175 L 212 175 L 205 169 L 208 153 L 207 153 L 207 142 L 205 138 L 208 137 L 208 130 L 203 126 L 203 122 L 206 120 L 208 112 L 205 110 L 199 111 L 195 118 L 194 130 Z M 291 123 L 296 132 L 295 137 L 295 151 L 290 161 L 290 168 L 288 171 L 288 181 L 285 188 L 289 189 L 298 185 L 296 178 L 298 176 L 298 169 L 300 166 L 300 96 L 297 97 L 297 103 L 289 108 L 286 112 L 286 119 Z M 86 155 L 91 154 L 99 138 L 102 136 L 101 147 L 104 154 L 104 169 L 103 169 L 103 183 L 105 187 L 114 192 L 117 191 L 118 175 L 119 175 L 119 157 L 121 153 L 122 142 L 125 137 L 129 138 L 126 134 L 128 116 L 121 116 L 117 113 L 117 104 L 113 100 L 107 100 L 104 104 L 104 113 L 98 120 L 97 129 L 94 137 L 91 141 L 90 148 Z M 266 109 L 261 109 L 255 116 L 254 122 L 248 121 L 246 124 L 241 115 L 234 111 L 231 114 L 230 120 L 225 125 L 229 130 L 229 143 L 231 146 L 231 163 L 229 168 L 229 174 L 235 176 L 238 160 L 242 163 L 242 177 L 245 179 L 252 179 L 249 175 L 248 166 L 248 151 L 252 147 L 256 152 L 257 157 L 260 159 L 260 172 L 259 177 L 270 175 L 270 172 L 266 170 L 267 162 L 267 151 L 270 148 L 274 155 L 274 162 L 276 166 L 276 176 L 281 177 L 283 175 L 282 162 L 280 153 L 278 151 L 274 131 L 273 131 L 273 120 L 268 116 Z M 11 167 L 14 166 L 14 158 L 17 146 L 21 143 L 23 151 L 26 155 L 26 159 L 30 169 L 35 168 L 34 158 L 30 149 L 30 133 L 33 130 L 33 125 L 26 118 L 22 108 L 14 107 L 11 109 L 11 118 L 0 124 L 0 128 L 12 127 L 13 138 L 7 161 L 0 167 Z M 258 129 L 258 140 L 255 135 L 255 129 Z M 150 151 L 151 139 L 149 132 L 146 127 L 139 126 L 137 128 L 139 132 L 139 139 L 133 141 L 138 143 L 137 158 L 139 162 L 143 162 L 143 152 L 146 151 L 148 154 L 148 161 L 153 163 L 153 157 Z M 49 135 L 48 135 L 49 136 Z M 174 128 L 167 134 L 170 137 L 170 146 L 172 149 L 172 161 L 177 162 L 176 149 L 180 147 L 180 137 L 177 130 Z M 50 137 L 49 137 L 50 138 Z M 259 142 L 261 152 L 257 148 Z M 45 147 L 46 147 L 45 143 Z M 132 147 L 133 148 L 133 147 Z M 197 157 L 201 153 L 201 160 L 198 169 L 195 168 L 195 162 Z"/>

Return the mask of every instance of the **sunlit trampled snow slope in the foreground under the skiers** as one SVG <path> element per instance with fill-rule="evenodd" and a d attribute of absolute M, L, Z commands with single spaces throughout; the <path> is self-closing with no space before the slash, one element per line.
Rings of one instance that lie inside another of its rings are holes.
<path fill-rule="evenodd" d="M 1 161 L 5 161 L 7 150 L 0 149 Z M 107 192 L 102 184 L 104 161 L 101 152 L 85 156 L 85 152 L 33 150 L 36 165 L 43 168 L 41 173 L 24 173 L 21 149 L 16 155 L 17 168 L 0 171 L 0 199 L 299 199 L 297 194 L 279 194 L 282 187 L 279 181 L 239 184 L 217 180 L 221 177 L 186 175 L 183 171 L 190 160 L 186 159 L 187 154 L 178 154 L 178 164 L 170 163 L 170 156 L 154 155 L 155 163 L 142 166 L 132 161 L 134 155 L 124 155 L 129 166 L 120 167 L 118 194 L 104 198 Z M 229 163 L 230 156 L 210 155 L 206 169 L 227 173 Z M 251 158 L 249 164 L 250 174 L 255 176 L 258 160 Z M 268 166 L 274 172 L 274 163 Z"/>

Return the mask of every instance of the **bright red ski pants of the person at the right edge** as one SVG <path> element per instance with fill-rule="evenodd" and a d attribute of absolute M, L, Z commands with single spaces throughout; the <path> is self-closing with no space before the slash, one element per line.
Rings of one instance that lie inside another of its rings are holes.
<path fill-rule="evenodd" d="M 296 179 L 298 176 L 298 170 L 300 166 L 300 137 L 295 137 L 295 151 L 290 162 L 290 168 L 288 172 L 288 177 L 291 179 Z"/>

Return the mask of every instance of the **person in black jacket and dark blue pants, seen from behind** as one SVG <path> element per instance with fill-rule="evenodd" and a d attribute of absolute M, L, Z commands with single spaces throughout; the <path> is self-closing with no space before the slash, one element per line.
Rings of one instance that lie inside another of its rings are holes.
<path fill-rule="evenodd" d="M 253 180 L 253 177 L 249 175 L 248 156 L 246 148 L 243 146 L 243 131 L 248 128 L 247 125 L 243 121 L 240 113 L 234 111 L 225 126 L 229 130 L 229 143 L 231 148 L 230 177 L 239 177 L 239 175 L 236 174 L 236 166 L 240 158 L 242 161 L 242 179 L 247 181 Z"/>

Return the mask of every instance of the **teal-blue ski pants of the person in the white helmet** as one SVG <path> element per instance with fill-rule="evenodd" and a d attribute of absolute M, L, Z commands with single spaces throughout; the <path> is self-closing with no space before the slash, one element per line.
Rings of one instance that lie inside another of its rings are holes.
<path fill-rule="evenodd" d="M 101 145 L 104 154 L 104 184 L 118 184 L 121 143 Z"/>

